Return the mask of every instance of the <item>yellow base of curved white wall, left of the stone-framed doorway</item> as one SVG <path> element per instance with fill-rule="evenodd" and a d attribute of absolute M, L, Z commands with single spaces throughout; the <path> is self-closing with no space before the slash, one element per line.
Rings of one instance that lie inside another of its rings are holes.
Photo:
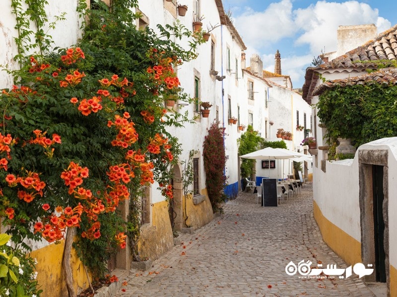
<path fill-rule="evenodd" d="M 313 213 L 324 242 L 331 247 L 347 265 L 361 263 L 361 243 L 329 221 L 321 212 L 316 201 L 313 201 Z"/>

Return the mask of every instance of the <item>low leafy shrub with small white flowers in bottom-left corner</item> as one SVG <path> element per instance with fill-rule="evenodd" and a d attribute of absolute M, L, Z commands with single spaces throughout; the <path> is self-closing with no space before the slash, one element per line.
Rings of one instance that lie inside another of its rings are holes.
<path fill-rule="evenodd" d="M 39 297 L 35 260 L 11 247 L 11 236 L 0 234 L 0 296 Z"/>

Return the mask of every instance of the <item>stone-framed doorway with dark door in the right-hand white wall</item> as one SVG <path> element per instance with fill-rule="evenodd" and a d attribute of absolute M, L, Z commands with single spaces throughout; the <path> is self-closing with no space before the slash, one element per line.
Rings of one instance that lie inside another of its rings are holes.
<path fill-rule="evenodd" d="M 363 280 L 390 288 L 388 150 L 359 149 L 358 162 L 361 259 L 374 265 Z"/>

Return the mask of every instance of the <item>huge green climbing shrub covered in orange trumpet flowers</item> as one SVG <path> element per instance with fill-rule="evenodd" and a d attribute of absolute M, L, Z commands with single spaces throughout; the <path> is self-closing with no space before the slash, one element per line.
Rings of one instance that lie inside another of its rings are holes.
<path fill-rule="evenodd" d="M 187 120 L 167 113 L 162 98 L 187 99 L 173 68 L 194 57 L 197 42 L 185 50 L 130 27 L 134 2 L 91 11 L 79 47 L 27 57 L 15 86 L 0 93 L 3 225 L 27 249 L 24 238 L 58 242 L 77 228 L 74 247 L 94 277 L 126 247 L 126 234 L 136 240 L 140 187 L 156 180 L 172 198 L 168 170 L 179 144 L 166 127 Z M 129 222 L 116 213 L 126 199 Z"/>

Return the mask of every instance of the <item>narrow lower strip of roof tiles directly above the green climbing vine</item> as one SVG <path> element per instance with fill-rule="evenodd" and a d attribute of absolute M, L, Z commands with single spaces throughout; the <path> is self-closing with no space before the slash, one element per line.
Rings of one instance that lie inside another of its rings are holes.
<path fill-rule="evenodd" d="M 354 85 L 368 85 L 368 84 L 392 84 L 397 85 L 397 68 L 383 68 L 381 70 L 356 76 L 353 78 L 335 79 L 325 82 L 318 86 L 313 96 L 321 95 L 328 88 L 335 86 L 354 86 Z"/>

